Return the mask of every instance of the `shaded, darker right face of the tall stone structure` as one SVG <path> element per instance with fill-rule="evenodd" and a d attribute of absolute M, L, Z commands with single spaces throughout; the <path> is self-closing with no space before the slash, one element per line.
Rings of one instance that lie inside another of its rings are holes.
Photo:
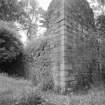
<path fill-rule="evenodd" d="M 93 34 L 94 15 L 86 0 L 65 0 L 64 14 L 64 81 L 66 90 L 70 90 L 77 84 L 79 67 L 85 63 L 78 47 L 85 37 Z M 82 71 L 85 73 L 85 70 Z"/>

